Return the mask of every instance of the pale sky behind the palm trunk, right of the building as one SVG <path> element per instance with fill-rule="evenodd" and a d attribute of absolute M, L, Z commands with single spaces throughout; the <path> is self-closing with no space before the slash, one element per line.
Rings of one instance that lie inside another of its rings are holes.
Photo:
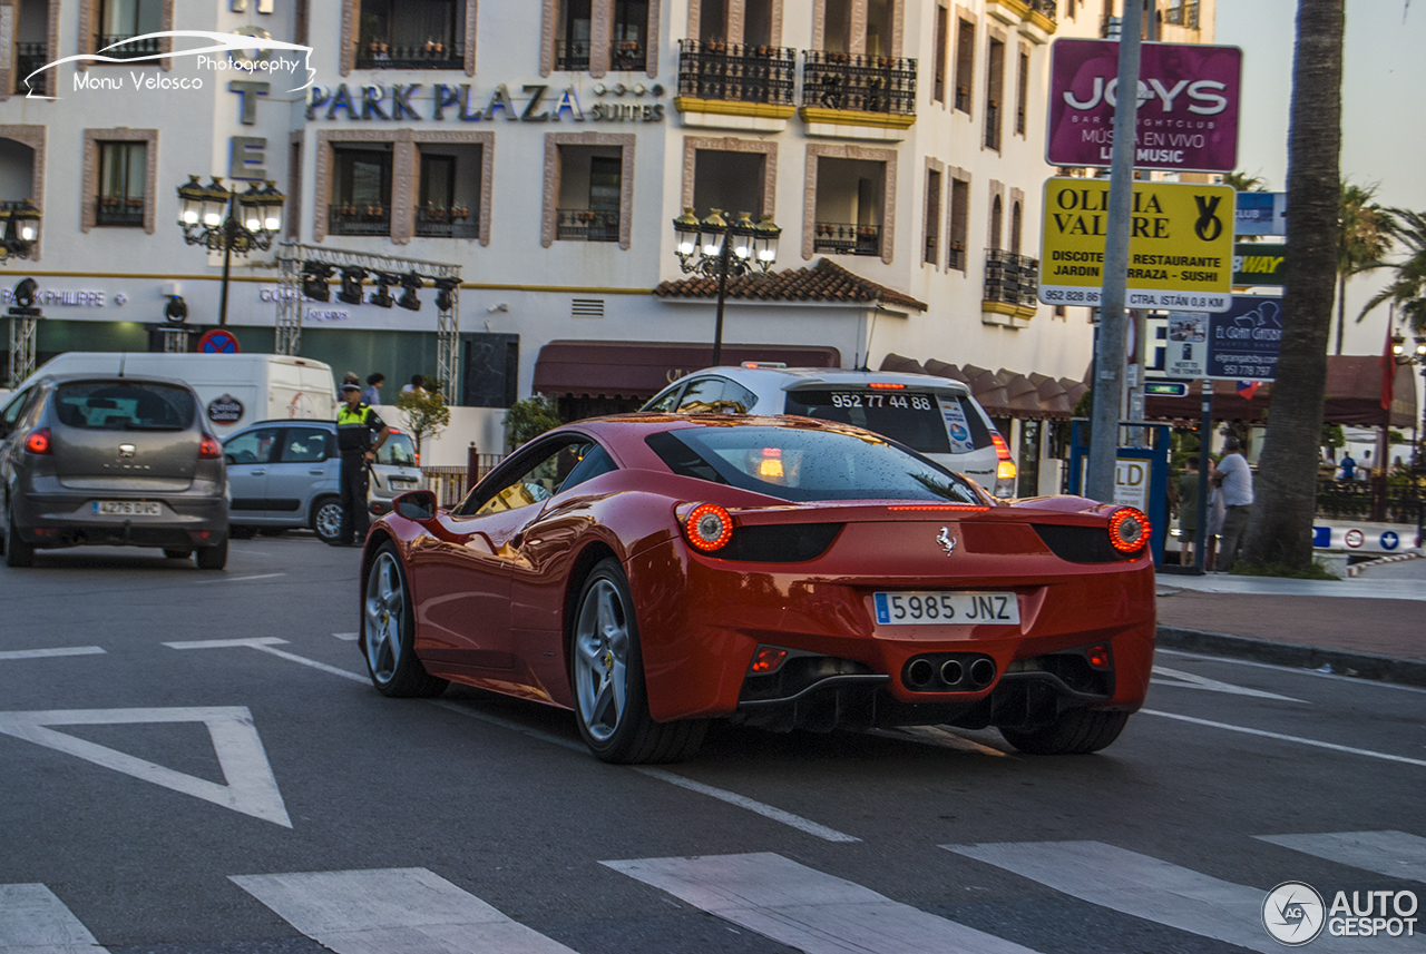
<path fill-rule="evenodd" d="M 1378 185 L 1380 205 L 1426 212 L 1426 0 L 1346 0 L 1342 174 Z M 1243 50 L 1238 168 L 1286 189 L 1296 0 L 1218 0 L 1215 43 Z M 1353 319 L 1382 283 L 1348 285 L 1348 355 L 1379 355 L 1383 305 Z M 1333 323 L 1333 340 L 1335 340 Z"/>

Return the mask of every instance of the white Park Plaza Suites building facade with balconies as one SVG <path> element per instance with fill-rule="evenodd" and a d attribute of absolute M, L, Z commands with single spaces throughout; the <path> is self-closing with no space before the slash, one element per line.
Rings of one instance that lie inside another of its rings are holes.
<path fill-rule="evenodd" d="M 590 413 L 706 360 L 704 286 L 653 290 L 684 279 L 672 219 L 722 209 L 770 215 L 776 271 L 809 269 L 730 298 L 729 347 L 1079 380 L 1091 326 L 1034 302 L 1032 262 L 1055 174 L 1050 43 L 1101 36 L 1105 3 L 0 0 L 0 198 L 44 214 L 36 255 L 4 271 L 40 283 L 41 359 L 147 349 L 171 295 L 190 323 L 217 323 L 222 259 L 184 243 L 175 188 L 271 179 L 288 239 L 461 266 L 465 403 L 539 386 Z M 1211 3 L 1158 6 L 1165 40 L 1211 38 Z M 158 30 L 311 54 L 133 60 L 204 43 L 145 40 L 121 63 L 39 74 L 53 98 L 16 93 L 46 63 Z M 232 263 L 245 350 L 272 350 L 275 258 Z M 830 281 L 823 261 L 858 281 Z M 419 312 L 304 302 L 299 353 L 384 372 L 394 396 L 435 367 L 434 292 L 419 298 Z M 560 360 L 542 366 L 552 342 Z"/>

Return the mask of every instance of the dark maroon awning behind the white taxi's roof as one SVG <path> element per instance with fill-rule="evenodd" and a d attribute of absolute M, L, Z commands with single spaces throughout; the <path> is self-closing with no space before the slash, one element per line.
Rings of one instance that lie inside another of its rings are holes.
<path fill-rule="evenodd" d="M 841 352 L 820 345 L 724 345 L 723 363 L 783 362 L 841 367 Z M 536 394 L 653 397 L 713 363 L 713 345 L 683 342 L 549 342 L 535 360 Z"/>

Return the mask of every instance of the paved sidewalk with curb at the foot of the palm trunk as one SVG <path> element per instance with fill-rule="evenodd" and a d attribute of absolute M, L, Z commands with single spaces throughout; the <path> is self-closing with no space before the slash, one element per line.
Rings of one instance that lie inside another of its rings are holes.
<path fill-rule="evenodd" d="M 1343 581 L 1161 575 L 1159 645 L 1426 686 L 1426 558 Z"/>

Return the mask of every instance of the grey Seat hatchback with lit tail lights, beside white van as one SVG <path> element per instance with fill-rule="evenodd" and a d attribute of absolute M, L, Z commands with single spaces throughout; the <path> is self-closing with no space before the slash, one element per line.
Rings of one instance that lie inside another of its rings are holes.
<path fill-rule="evenodd" d="M 54 374 L 0 410 L 4 557 L 83 544 L 228 560 L 222 447 L 198 396 L 164 377 Z"/>

